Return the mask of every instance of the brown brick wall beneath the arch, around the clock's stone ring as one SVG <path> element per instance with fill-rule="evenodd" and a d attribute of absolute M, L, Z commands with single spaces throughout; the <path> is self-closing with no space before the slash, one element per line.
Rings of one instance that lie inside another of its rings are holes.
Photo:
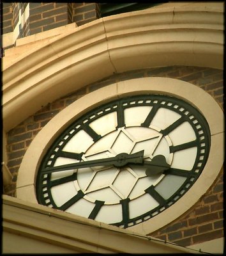
<path fill-rule="evenodd" d="M 202 67 L 161 67 L 133 70 L 107 77 L 98 83 L 56 100 L 30 116 L 7 134 L 8 168 L 13 175 L 13 183 L 5 188 L 6 194 L 15 196 L 15 184 L 22 157 L 36 134 L 59 111 L 88 92 L 93 92 L 107 84 L 137 77 L 171 77 L 195 84 L 208 92 L 223 109 L 223 71 Z M 150 234 L 172 241 L 182 246 L 201 243 L 223 237 L 223 170 L 206 195 L 200 198 L 192 209 L 178 220 Z"/>

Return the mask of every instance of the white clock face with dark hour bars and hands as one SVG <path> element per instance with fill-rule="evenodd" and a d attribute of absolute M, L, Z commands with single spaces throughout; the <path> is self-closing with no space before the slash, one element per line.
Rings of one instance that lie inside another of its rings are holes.
<path fill-rule="evenodd" d="M 38 202 L 118 227 L 160 214 L 185 195 L 207 161 L 199 111 L 166 95 L 115 100 L 73 122 L 43 157 Z"/>

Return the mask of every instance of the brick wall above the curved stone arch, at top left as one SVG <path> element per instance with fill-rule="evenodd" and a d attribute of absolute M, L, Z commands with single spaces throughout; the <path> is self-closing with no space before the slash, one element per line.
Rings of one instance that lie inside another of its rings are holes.
<path fill-rule="evenodd" d="M 28 3 L 3 3 L 3 34 L 13 32 L 19 24 L 19 12 L 24 13 Z M 77 26 L 100 18 L 98 3 L 29 3 L 29 16 L 21 26 L 18 38 L 76 22 Z M 15 42 L 13 42 L 15 44 Z M 7 48 L 13 47 L 9 45 Z"/>

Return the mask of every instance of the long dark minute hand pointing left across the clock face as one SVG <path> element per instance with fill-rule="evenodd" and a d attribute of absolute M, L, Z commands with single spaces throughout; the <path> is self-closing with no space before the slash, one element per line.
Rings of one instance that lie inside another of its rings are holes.
<path fill-rule="evenodd" d="M 61 172 L 79 168 L 89 168 L 94 166 L 114 165 L 116 167 L 122 167 L 128 163 L 143 163 L 144 150 L 141 150 L 134 154 L 121 153 L 115 157 L 107 157 L 103 159 L 94 159 L 91 161 L 84 161 L 73 164 L 63 164 L 60 166 L 49 167 L 43 170 L 44 173 Z"/>

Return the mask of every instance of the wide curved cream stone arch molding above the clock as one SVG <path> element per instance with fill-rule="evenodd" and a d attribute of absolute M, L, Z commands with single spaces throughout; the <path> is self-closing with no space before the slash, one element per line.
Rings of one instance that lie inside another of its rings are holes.
<path fill-rule="evenodd" d="M 27 45 L 14 63 L 3 60 L 6 132 L 48 102 L 114 73 L 167 65 L 223 68 L 223 5 L 174 3 L 113 15 L 32 49 Z"/>

